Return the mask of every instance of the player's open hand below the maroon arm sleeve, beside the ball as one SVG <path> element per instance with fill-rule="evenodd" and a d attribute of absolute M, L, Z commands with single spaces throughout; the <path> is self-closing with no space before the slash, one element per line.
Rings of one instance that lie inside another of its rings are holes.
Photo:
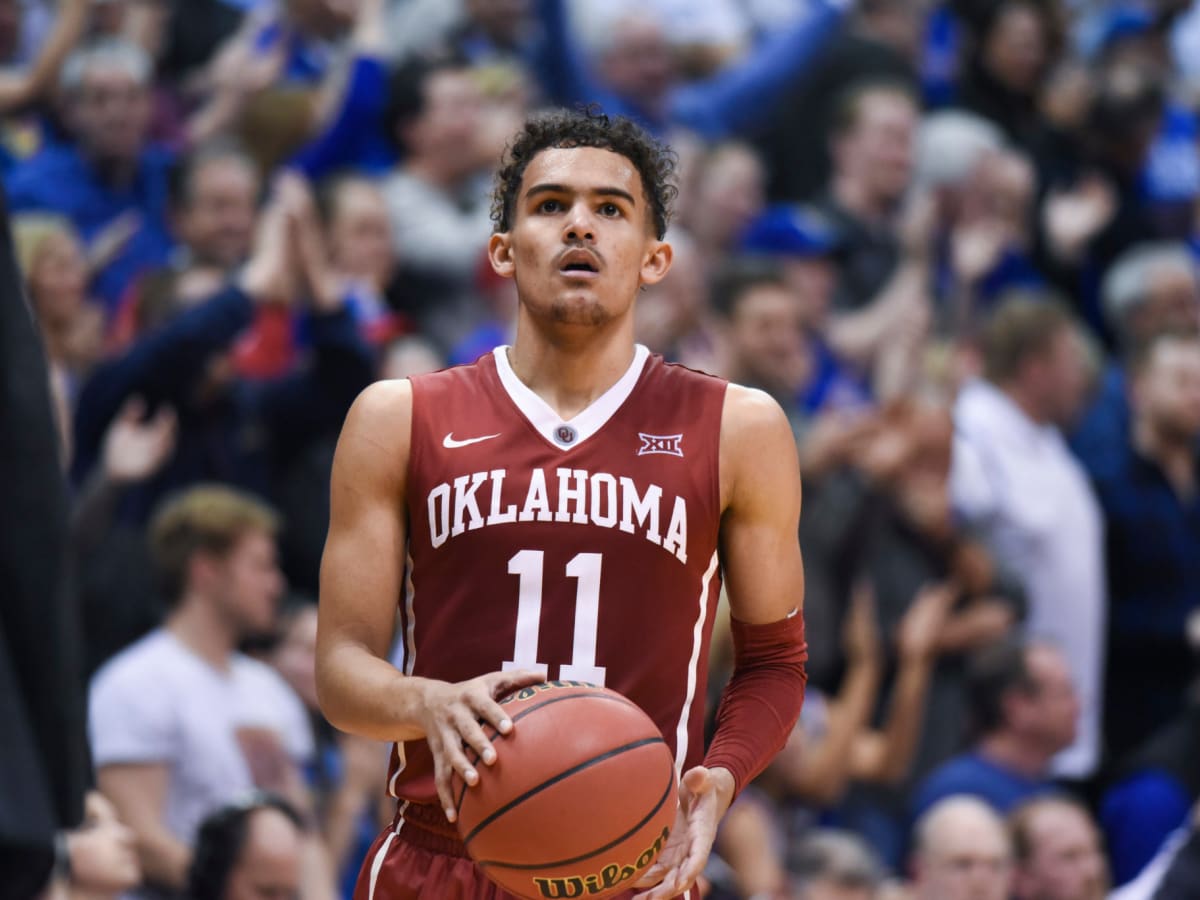
<path fill-rule="evenodd" d="M 679 781 L 679 812 L 667 845 L 636 887 L 644 900 L 679 896 L 695 884 L 716 840 L 716 826 L 733 800 L 733 775 L 727 769 L 697 766 Z"/>

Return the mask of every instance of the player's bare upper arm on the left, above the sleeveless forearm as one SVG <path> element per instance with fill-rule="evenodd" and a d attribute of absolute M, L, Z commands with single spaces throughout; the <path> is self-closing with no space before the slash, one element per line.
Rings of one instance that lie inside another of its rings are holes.
<path fill-rule="evenodd" d="M 410 426 L 408 382 L 367 388 L 346 418 L 330 479 L 318 656 L 347 641 L 388 655 L 404 575 Z"/>

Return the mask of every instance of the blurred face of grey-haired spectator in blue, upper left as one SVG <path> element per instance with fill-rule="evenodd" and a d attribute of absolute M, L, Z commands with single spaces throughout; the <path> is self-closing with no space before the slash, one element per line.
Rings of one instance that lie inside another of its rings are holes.
<path fill-rule="evenodd" d="M 115 61 L 95 61 L 71 96 L 68 115 L 85 155 L 128 163 L 145 144 L 150 112 L 146 85 Z"/>

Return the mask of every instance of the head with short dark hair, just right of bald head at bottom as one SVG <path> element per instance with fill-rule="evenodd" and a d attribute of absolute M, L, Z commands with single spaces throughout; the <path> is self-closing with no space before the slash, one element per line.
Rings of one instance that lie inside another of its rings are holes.
<path fill-rule="evenodd" d="M 1025 820 L 1030 856 L 1018 866 L 1019 900 L 1103 900 L 1109 894 L 1100 835 L 1072 803 L 1046 800 Z"/>

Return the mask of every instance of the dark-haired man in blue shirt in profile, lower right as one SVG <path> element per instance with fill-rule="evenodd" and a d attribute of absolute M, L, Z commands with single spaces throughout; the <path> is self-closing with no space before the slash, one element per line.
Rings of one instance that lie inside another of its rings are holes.
<path fill-rule="evenodd" d="M 1004 640 L 967 670 L 973 746 L 935 769 L 913 793 L 919 818 L 952 794 L 973 794 L 1001 814 L 1054 790 L 1050 761 L 1075 739 L 1079 697 L 1062 654 L 1045 643 Z"/>

